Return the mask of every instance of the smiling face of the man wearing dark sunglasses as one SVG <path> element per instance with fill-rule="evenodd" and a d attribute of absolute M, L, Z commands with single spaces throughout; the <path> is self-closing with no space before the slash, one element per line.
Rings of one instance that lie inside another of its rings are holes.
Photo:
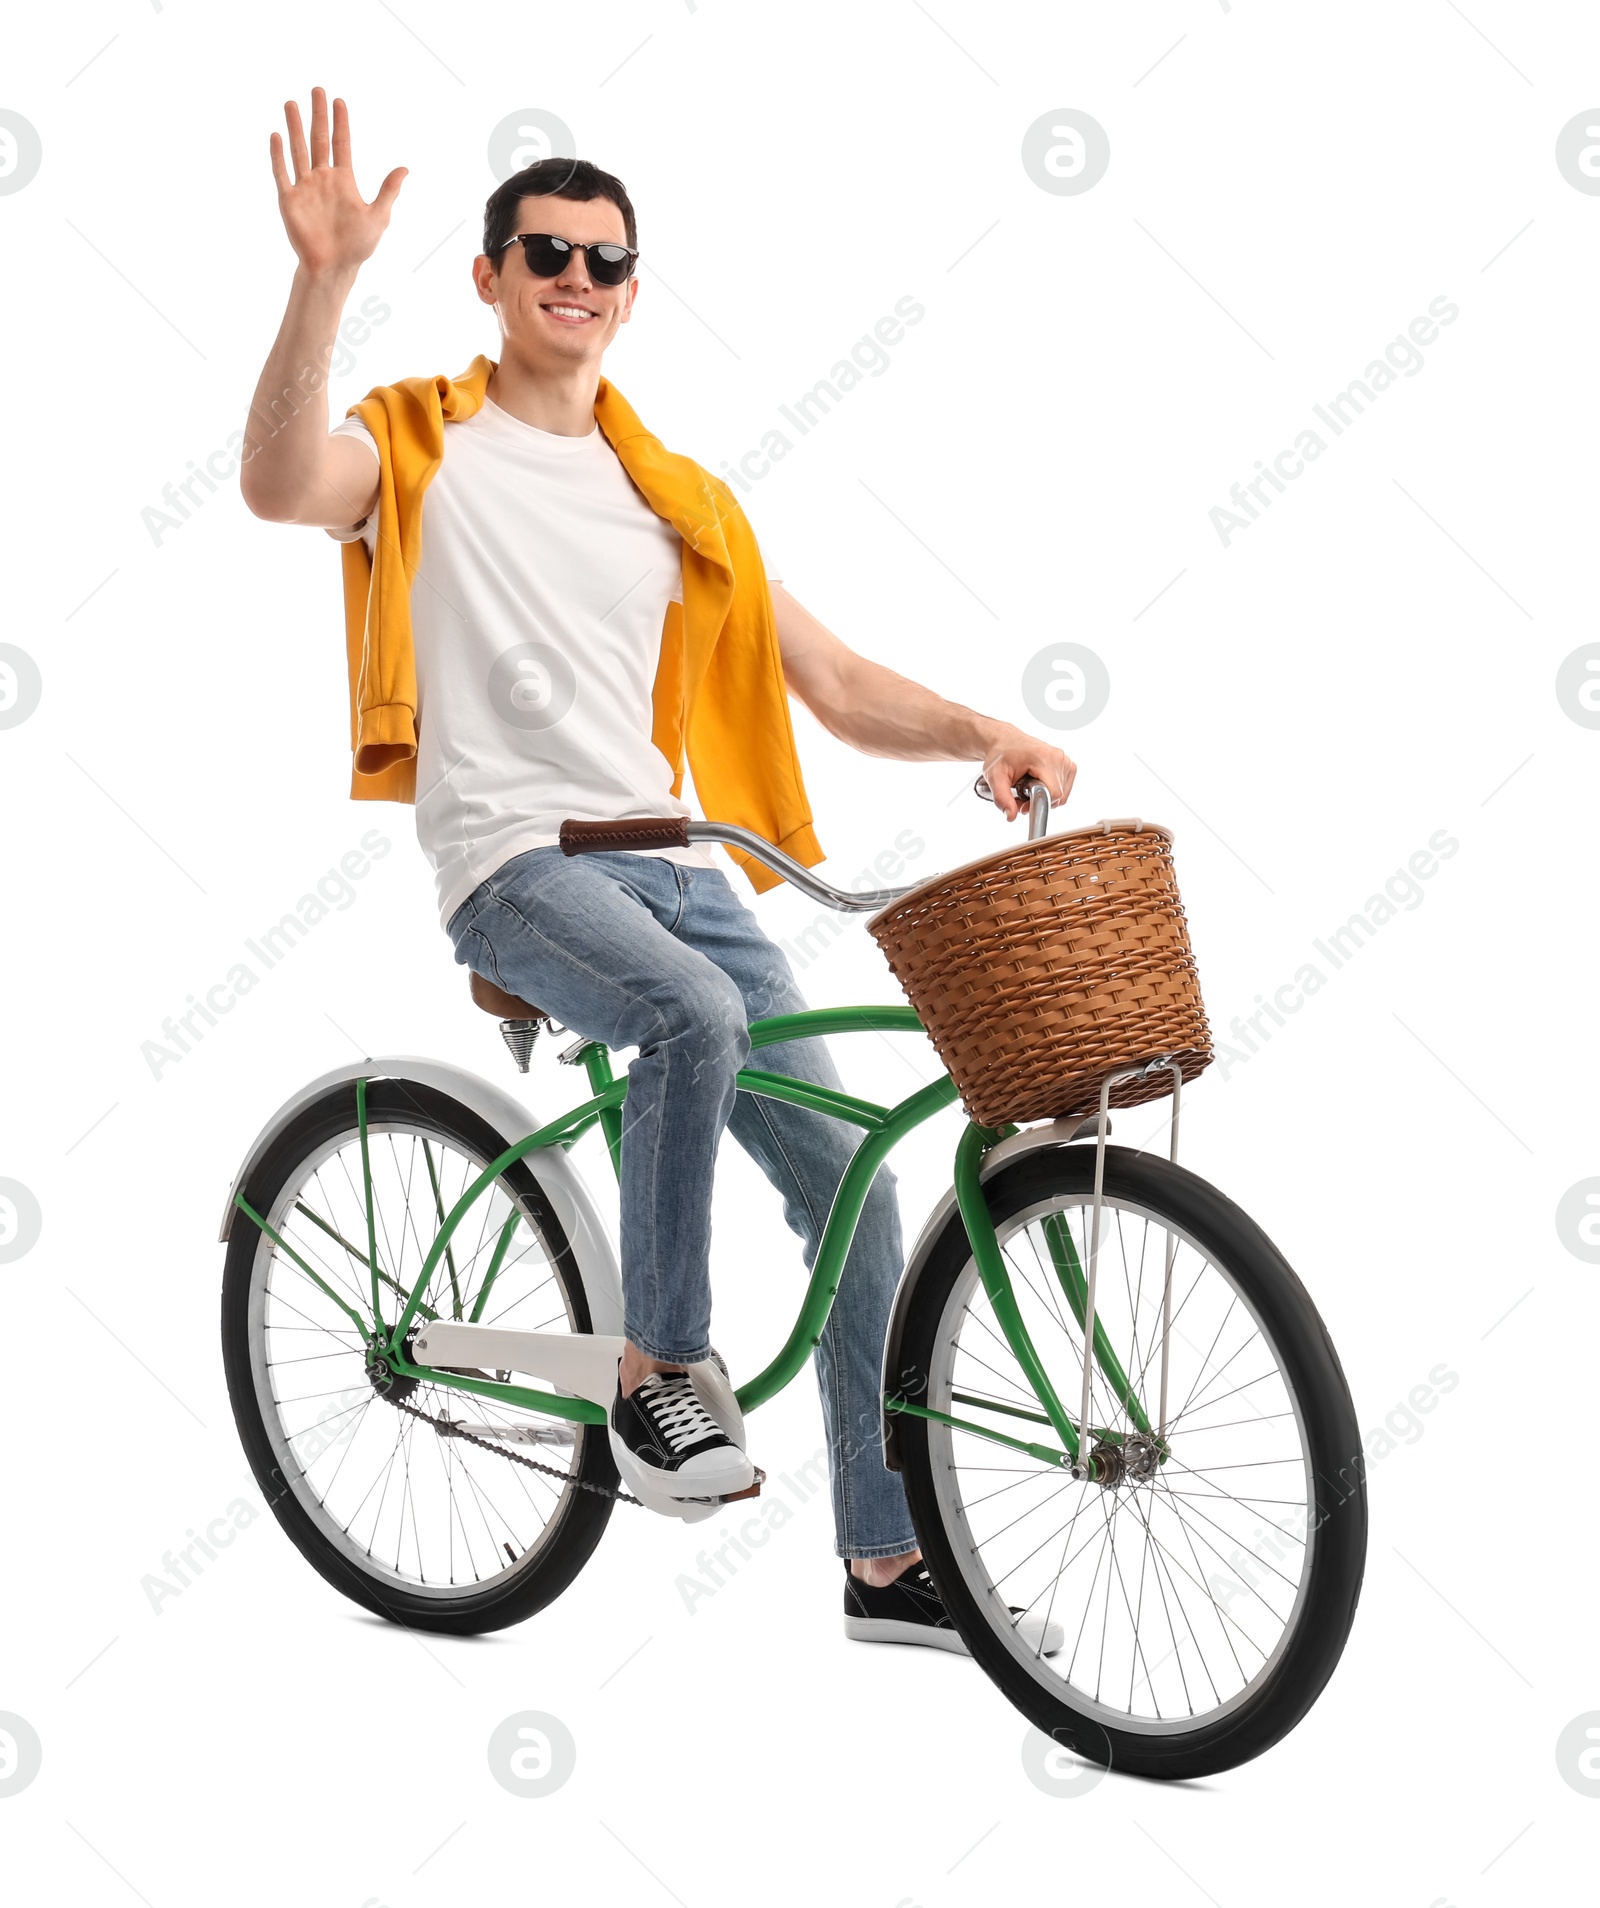
<path fill-rule="evenodd" d="M 524 198 L 519 233 L 553 233 L 572 244 L 627 244 L 622 212 L 608 198 Z M 479 298 L 494 305 L 511 349 L 540 368 L 593 363 L 627 322 L 639 280 L 595 284 L 589 254 L 572 252 L 557 279 L 536 279 L 521 244 L 500 258 L 479 254 L 473 265 Z"/>

